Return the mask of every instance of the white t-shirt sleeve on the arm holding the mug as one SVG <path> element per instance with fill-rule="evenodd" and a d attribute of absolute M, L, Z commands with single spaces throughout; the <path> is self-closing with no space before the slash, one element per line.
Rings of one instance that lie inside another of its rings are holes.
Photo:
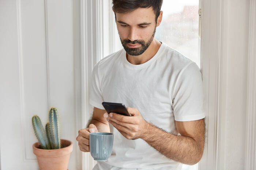
<path fill-rule="evenodd" d="M 99 63 L 95 64 L 95 66 L 93 67 L 89 91 L 89 103 L 94 107 L 105 109 L 102 106 L 103 96 L 101 92 L 101 83 L 99 79 L 98 67 Z"/>

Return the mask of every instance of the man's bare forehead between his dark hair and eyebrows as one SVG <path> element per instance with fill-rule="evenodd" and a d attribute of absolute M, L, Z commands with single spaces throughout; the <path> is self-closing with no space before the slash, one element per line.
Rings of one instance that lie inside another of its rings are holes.
<path fill-rule="evenodd" d="M 137 8 L 129 13 L 116 13 L 116 20 L 128 24 L 139 24 L 143 22 L 152 22 L 155 20 L 155 12 L 150 8 Z"/>

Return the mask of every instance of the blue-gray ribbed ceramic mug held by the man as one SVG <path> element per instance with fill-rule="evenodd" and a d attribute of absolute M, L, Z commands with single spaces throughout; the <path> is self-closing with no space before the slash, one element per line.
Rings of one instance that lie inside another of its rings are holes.
<path fill-rule="evenodd" d="M 107 161 L 113 149 L 114 134 L 108 132 L 90 133 L 90 153 L 95 161 Z"/>

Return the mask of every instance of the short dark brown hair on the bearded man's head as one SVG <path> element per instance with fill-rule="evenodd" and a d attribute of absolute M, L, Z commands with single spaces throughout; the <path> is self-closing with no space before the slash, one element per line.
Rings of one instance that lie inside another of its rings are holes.
<path fill-rule="evenodd" d="M 155 11 L 155 23 L 160 14 L 163 0 L 112 0 L 112 8 L 114 9 L 115 19 L 117 13 L 129 13 L 137 8 L 153 7 Z"/>

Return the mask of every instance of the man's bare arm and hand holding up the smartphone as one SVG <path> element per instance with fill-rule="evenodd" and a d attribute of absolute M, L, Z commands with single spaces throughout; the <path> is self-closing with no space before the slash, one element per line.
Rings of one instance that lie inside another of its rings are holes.
<path fill-rule="evenodd" d="M 143 119 L 137 108 L 127 107 L 133 116 L 116 113 L 104 114 L 125 138 L 145 140 L 168 158 L 188 165 L 199 162 L 204 149 L 204 119 L 176 122 L 181 136 L 167 133 Z"/>

